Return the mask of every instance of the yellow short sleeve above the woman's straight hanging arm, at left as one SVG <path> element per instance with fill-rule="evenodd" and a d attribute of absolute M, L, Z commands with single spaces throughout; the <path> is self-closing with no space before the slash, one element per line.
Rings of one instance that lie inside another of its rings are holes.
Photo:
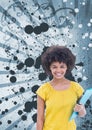
<path fill-rule="evenodd" d="M 47 97 L 47 86 L 45 84 L 41 85 L 36 94 L 39 95 L 43 100 L 46 100 Z"/>

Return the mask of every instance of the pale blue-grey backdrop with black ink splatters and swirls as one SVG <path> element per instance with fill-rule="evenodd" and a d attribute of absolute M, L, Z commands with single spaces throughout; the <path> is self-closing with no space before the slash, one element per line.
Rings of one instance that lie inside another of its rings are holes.
<path fill-rule="evenodd" d="M 0 0 L 0 130 L 36 129 L 40 57 L 56 44 L 77 56 L 67 78 L 92 87 L 92 0 Z M 91 98 L 86 109 L 78 130 L 92 129 Z"/>

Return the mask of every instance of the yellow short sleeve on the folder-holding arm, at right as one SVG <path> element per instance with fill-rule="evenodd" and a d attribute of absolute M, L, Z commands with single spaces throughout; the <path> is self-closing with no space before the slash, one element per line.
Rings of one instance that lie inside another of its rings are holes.
<path fill-rule="evenodd" d="M 76 82 L 75 82 L 73 87 L 74 87 L 74 90 L 77 94 L 77 97 L 80 98 L 83 95 L 83 92 L 84 92 L 83 87 L 79 83 L 76 83 Z"/>

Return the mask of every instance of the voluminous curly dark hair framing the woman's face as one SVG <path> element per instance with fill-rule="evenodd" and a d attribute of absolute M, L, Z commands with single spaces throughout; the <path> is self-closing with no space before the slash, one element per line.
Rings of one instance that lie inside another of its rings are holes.
<path fill-rule="evenodd" d="M 65 46 L 53 45 L 49 47 L 41 56 L 42 67 L 45 72 L 52 76 L 50 65 L 53 62 L 63 62 L 67 65 L 67 72 L 69 73 L 75 66 L 75 55 L 71 50 Z"/>

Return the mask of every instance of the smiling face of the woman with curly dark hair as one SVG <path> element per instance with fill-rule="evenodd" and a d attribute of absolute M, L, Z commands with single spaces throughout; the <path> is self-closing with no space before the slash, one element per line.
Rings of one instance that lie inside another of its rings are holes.
<path fill-rule="evenodd" d="M 63 62 L 53 62 L 50 65 L 50 70 L 51 70 L 53 78 L 61 79 L 61 78 L 64 78 L 66 74 L 67 65 Z"/>

